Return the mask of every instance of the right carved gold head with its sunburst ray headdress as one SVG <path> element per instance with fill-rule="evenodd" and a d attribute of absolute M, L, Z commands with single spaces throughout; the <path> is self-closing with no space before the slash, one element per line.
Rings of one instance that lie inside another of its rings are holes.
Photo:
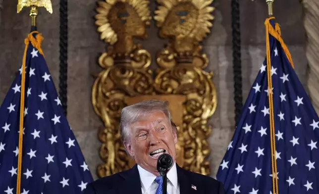
<path fill-rule="evenodd" d="M 160 4 L 154 19 L 160 36 L 172 39 L 172 49 L 192 52 L 210 32 L 213 0 L 157 0 Z"/>

